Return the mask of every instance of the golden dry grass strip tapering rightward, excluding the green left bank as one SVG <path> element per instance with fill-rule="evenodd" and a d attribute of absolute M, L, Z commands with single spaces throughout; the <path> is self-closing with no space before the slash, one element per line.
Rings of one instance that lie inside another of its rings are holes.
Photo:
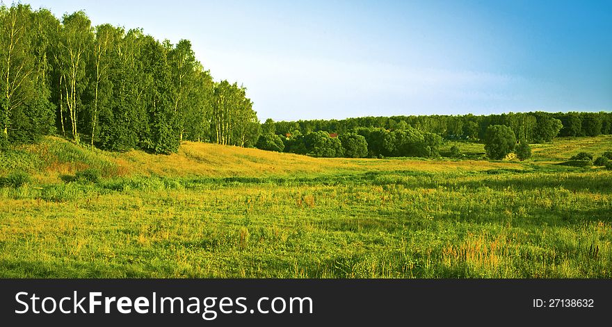
<path fill-rule="evenodd" d="M 237 146 L 183 142 L 178 153 L 156 156 L 143 151 L 122 153 L 118 165 L 131 174 L 163 176 L 287 176 L 292 174 L 325 174 L 335 171 L 448 171 L 487 170 L 521 167 L 512 162 L 476 160 L 410 160 L 312 158 L 292 153 L 277 153 Z"/>

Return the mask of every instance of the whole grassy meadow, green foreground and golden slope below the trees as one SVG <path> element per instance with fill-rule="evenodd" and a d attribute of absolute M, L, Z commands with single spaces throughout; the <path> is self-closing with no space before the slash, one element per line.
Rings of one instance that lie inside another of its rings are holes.
<path fill-rule="evenodd" d="M 172 156 L 49 137 L 0 154 L 1 277 L 612 277 L 612 171 L 533 160 L 323 159 L 186 142 Z M 446 147 L 446 148 L 445 148 Z M 74 181 L 83 169 L 96 183 Z"/>

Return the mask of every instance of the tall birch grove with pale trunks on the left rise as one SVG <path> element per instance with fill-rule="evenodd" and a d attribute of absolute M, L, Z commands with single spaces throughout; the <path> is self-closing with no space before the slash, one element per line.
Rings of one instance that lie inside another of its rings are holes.
<path fill-rule="evenodd" d="M 182 140 L 254 146 L 245 87 L 213 81 L 188 40 L 0 7 L 0 146 L 58 134 L 102 149 L 176 152 Z"/>

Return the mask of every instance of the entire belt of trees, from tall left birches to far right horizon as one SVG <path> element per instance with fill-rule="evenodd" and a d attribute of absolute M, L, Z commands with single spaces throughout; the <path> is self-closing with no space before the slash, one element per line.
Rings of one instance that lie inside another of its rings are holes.
<path fill-rule="evenodd" d="M 215 82 L 191 42 L 0 7 L 0 149 L 43 135 L 110 151 L 173 153 L 183 140 L 318 157 L 438 156 L 442 140 L 482 140 L 506 125 L 517 142 L 612 134 L 611 112 L 359 117 L 260 124 L 246 89 Z M 373 108 L 375 109 L 375 108 Z"/>

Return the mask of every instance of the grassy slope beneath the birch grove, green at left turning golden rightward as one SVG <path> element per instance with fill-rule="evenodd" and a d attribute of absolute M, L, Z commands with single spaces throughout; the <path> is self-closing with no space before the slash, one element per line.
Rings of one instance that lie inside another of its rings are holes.
<path fill-rule="evenodd" d="M 474 147 L 474 145 L 472 145 Z M 482 146 L 476 144 L 475 146 Z M 270 177 L 313 176 L 363 171 L 448 171 L 517 168 L 516 162 L 484 160 L 311 158 L 236 146 L 184 142 L 178 153 L 156 156 L 143 151 L 106 152 L 74 145 L 58 137 L 0 153 L 0 175 L 13 169 L 31 172 L 41 183 L 60 183 L 62 176 L 89 167 L 111 176 Z"/>

